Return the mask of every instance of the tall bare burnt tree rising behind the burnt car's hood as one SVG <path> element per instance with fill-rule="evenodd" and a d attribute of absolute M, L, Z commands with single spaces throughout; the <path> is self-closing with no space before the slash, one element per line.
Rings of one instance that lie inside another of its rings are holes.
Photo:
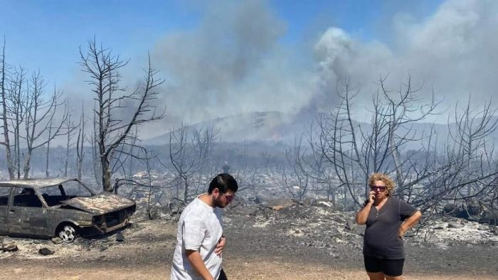
<path fill-rule="evenodd" d="M 94 141 L 97 150 L 100 170 L 102 173 L 102 188 L 112 192 L 111 161 L 120 153 L 117 148 L 135 137 L 130 131 L 135 126 L 164 118 L 163 112 L 156 112 L 157 87 L 164 80 L 157 80 L 157 70 L 151 65 L 149 56 L 148 69 L 145 70 L 143 82 L 131 93 L 121 86 L 120 70 L 129 60 L 122 60 L 114 55 L 112 50 L 97 45 L 95 38 L 88 41 L 87 48 L 80 48 L 80 65 L 83 72 L 90 78 L 86 82 L 92 87 L 94 94 Z M 130 108 L 135 106 L 134 108 Z M 126 108 L 129 119 L 124 119 L 122 113 Z M 120 112 L 120 109 L 122 110 Z"/>

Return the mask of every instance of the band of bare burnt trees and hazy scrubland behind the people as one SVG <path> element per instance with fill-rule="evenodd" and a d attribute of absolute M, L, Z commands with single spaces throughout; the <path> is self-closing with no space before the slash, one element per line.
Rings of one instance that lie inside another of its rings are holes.
<path fill-rule="evenodd" d="M 153 207 L 172 209 L 205 191 L 225 161 L 240 182 L 240 202 L 247 204 L 265 190 L 356 210 L 368 193 L 369 174 L 383 172 L 395 179 L 396 195 L 420 208 L 425 220 L 450 212 L 496 221 L 498 117 L 491 100 L 477 104 L 469 98 L 447 109 L 435 93 L 424 98 L 423 86 L 413 85 L 410 76 L 396 89 L 380 77 L 367 108 L 370 122 L 361 123 L 353 114 L 361 89 L 346 79 L 338 83 L 337 104 L 318 114 L 307 131 L 294 131 L 292 143 L 227 143 L 216 126 L 181 122 L 163 145 L 147 146 L 140 127 L 166 117 L 166 104 L 157 104 L 164 80 L 150 58 L 141 82 L 128 89 L 120 74 L 128 60 L 95 38 L 88 41 L 80 48 L 80 67 L 93 104 L 82 106 L 80 116 L 70 114 L 63 92 L 48 90 L 40 72 L 28 76 L 8 58 L 4 41 L 0 166 L 9 179 L 82 178 L 95 190 L 139 200 L 152 217 Z M 426 123 L 441 114 L 450 116 L 444 130 Z M 51 146 L 60 137 L 65 146 Z"/>

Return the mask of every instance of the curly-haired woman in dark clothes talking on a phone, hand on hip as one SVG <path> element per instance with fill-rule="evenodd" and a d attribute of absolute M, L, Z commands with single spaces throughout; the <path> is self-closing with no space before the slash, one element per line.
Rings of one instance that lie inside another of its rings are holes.
<path fill-rule="evenodd" d="M 370 279 L 402 279 L 405 254 L 403 235 L 413 227 L 420 211 L 391 196 L 394 182 L 383 173 L 369 178 L 370 195 L 356 214 L 356 223 L 366 224 L 363 254 Z"/>

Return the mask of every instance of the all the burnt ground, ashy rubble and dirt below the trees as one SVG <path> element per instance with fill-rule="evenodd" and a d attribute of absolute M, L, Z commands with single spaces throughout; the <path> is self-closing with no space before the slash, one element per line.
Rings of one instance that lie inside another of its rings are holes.
<path fill-rule="evenodd" d="M 75 239 L 0 237 L 0 279 L 169 279 L 178 211 L 144 208 L 120 232 Z M 278 199 L 227 209 L 230 279 L 366 279 L 364 228 L 328 202 Z M 436 216 L 409 232 L 406 279 L 497 279 L 495 227 Z"/>

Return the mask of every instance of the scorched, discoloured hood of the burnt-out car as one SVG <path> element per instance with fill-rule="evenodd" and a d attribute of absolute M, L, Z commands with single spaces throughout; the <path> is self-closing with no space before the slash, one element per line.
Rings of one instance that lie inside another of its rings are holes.
<path fill-rule="evenodd" d="M 135 205 L 133 200 L 112 193 L 99 193 L 85 198 L 71 198 L 70 200 L 60 201 L 60 203 L 94 215 L 102 215 Z"/>

